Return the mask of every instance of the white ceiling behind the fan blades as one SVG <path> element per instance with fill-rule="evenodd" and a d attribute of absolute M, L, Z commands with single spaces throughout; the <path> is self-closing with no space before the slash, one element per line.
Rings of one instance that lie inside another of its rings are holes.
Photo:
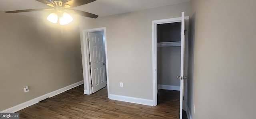
<path fill-rule="evenodd" d="M 170 4 L 188 2 L 190 0 L 96 0 L 74 9 L 97 14 L 99 17 L 122 14 L 137 10 L 145 10 Z M 50 8 L 36 0 L 1 0 L 0 11 Z M 24 16 L 40 18 L 45 11 L 15 13 Z"/>

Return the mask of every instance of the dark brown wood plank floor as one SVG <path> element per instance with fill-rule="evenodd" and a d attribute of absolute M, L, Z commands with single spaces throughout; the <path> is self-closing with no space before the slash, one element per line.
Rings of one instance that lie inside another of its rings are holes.
<path fill-rule="evenodd" d="M 108 99 L 107 88 L 83 94 L 84 85 L 18 111 L 20 119 L 178 119 L 179 91 L 159 90 L 158 105 Z"/>

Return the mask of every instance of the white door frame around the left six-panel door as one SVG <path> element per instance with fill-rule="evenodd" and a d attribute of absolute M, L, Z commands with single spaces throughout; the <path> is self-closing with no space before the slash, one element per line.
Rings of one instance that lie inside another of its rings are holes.
<path fill-rule="evenodd" d="M 90 75 L 90 57 L 89 57 L 89 48 L 88 48 L 88 32 L 94 31 L 104 31 L 104 45 L 105 45 L 105 58 L 106 58 L 106 78 L 108 82 L 108 54 L 107 54 L 107 37 L 106 37 L 106 27 L 94 28 L 94 29 L 84 29 L 82 30 L 81 40 L 81 52 L 82 52 L 82 66 L 83 66 L 83 75 L 84 75 L 84 94 L 92 94 L 91 84 L 91 75 Z M 109 96 L 109 85 L 108 86 L 108 96 Z"/>

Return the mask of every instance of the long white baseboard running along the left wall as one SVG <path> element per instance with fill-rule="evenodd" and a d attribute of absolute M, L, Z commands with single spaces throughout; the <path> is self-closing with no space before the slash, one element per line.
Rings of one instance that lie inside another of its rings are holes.
<path fill-rule="evenodd" d="M 82 81 L 80 81 L 80 82 L 76 82 L 76 83 L 71 84 L 71 85 L 69 85 L 69 86 L 66 86 L 66 87 L 64 87 L 64 88 L 60 88 L 60 89 L 58 89 L 58 90 L 55 90 L 55 91 L 50 92 L 50 93 L 48 93 L 48 94 L 45 94 L 45 95 L 43 95 L 43 96 L 39 96 L 39 97 L 37 97 L 37 98 L 31 99 L 31 100 L 29 100 L 29 101 L 26 101 L 26 102 L 24 102 L 24 103 L 21 103 L 21 104 L 19 104 L 19 105 L 14 106 L 14 107 L 10 107 L 9 109 L 5 109 L 5 110 L 3 110 L 3 111 L 0 111 L 0 113 L 14 113 L 14 112 L 16 112 L 16 111 L 19 111 L 19 110 L 21 110 L 21 109 L 24 109 L 24 108 L 26 108 L 26 107 L 29 107 L 29 106 L 31 106 L 31 105 L 34 105 L 34 104 L 38 103 L 39 101 L 41 101 L 41 100 L 43 100 L 43 99 L 51 98 L 51 97 L 56 96 L 56 95 L 58 95 L 58 94 L 60 94 L 60 93 L 62 93 L 62 92 L 65 92 L 65 91 L 67 91 L 67 90 L 70 90 L 71 88 L 74 88 L 74 87 L 76 87 L 76 86 L 79 86 L 79 85 L 81 85 L 81 84 L 84 84 L 84 80 L 82 80 Z"/>

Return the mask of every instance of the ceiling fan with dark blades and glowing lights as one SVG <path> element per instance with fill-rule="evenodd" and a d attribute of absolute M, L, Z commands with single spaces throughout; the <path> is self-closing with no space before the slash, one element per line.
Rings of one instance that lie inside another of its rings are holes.
<path fill-rule="evenodd" d="M 52 11 L 52 13 L 47 17 L 47 20 L 52 23 L 58 22 L 61 25 L 66 25 L 73 20 L 73 18 L 70 16 L 70 14 L 72 14 L 72 13 L 78 14 L 80 16 L 89 17 L 89 18 L 98 18 L 98 15 L 96 15 L 96 14 L 71 9 L 73 7 L 88 4 L 88 3 L 94 2 L 96 0 L 36 0 L 36 1 L 44 3 L 44 4 L 52 7 L 52 9 L 15 10 L 15 11 L 7 11 L 6 13 L 33 12 L 33 11 L 48 10 L 48 11 Z"/>

